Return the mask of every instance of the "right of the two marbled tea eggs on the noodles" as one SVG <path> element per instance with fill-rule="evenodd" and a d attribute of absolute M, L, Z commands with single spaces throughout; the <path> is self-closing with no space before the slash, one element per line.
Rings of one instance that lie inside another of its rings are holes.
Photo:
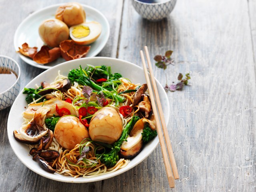
<path fill-rule="evenodd" d="M 98 110 L 89 124 L 90 138 L 107 144 L 116 142 L 122 134 L 123 123 L 118 112 L 112 107 Z"/>

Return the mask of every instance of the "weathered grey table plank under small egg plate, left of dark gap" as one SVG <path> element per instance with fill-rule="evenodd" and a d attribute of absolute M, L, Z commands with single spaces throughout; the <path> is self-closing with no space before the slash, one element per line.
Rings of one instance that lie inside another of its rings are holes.
<path fill-rule="evenodd" d="M 18 57 L 13 45 L 14 32 L 20 22 L 30 13 L 40 8 L 63 2 L 69 1 L 0 0 L 0 54 L 14 58 L 19 63 L 22 88 L 44 70 L 28 65 Z M 110 38 L 98 56 L 116 57 L 123 2 L 119 0 L 101 1 L 100 3 L 90 0 L 77 0 L 76 2 L 90 5 L 100 10 L 106 16 L 110 24 Z M 102 182 L 90 184 L 56 182 L 44 178 L 26 168 L 18 160 L 8 141 L 6 125 L 9 111 L 10 108 L 0 111 L 0 191 L 100 191 Z"/>

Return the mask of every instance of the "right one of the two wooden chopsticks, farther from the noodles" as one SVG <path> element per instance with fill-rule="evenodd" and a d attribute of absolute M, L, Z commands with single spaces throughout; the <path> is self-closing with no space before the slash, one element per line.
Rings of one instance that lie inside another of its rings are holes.
<path fill-rule="evenodd" d="M 162 123 L 162 128 L 163 128 L 163 131 L 164 131 L 164 138 L 165 138 L 165 142 L 166 142 L 166 146 L 167 146 L 167 150 L 168 150 L 168 154 L 169 154 L 169 158 L 170 158 L 170 162 L 171 162 L 171 166 L 172 166 L 173 176 L 174 176 L 174 179 L 179 179 L 180 177 L 179 177 L 179 174 L 178 174 L 178 169 L 177 169 L 174 154 L 173 154 L 173 151 L 172 151 L 172 145 L 171 145 L 171 142 L 170 142 L 168 130 L 166 128 L 166 124 L 165 124 L 165 120 L 164 120 L 164 114 L 163 114 L 163 110 L 162 110 L 158 90 L 157 90 L 157 87 L 156 87 L 156 80 L 154 78 L 152 65 L 151 65 L 151 62 L 150 62 L 148 47 L 145 46 L 144 48 L 145 48 L 145 52 L 146 52 L 146 58 L 147 58 L 147 61 L 148 61 L 148 68 L 149 68 L 149 73 L 150 73 L 150 77 L 151 77 L 151 82 L 153 84 L 153 88 L 154 88 L 154 92 L 155 92 L 155 96 L 156 96 L 156 104 L 157 104 L 157 107 L 158 107 L 158 112 L 159 112 L 160 120 L 161 120 L 161 123 Z"/>

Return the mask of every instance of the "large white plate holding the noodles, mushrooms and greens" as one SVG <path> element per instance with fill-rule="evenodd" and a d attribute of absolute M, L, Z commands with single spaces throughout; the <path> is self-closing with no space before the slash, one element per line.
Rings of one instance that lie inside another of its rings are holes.
<path fill-rule="evenodd" d="M 26 88 L 35 88 L 35 84 L 40 84 L 42 81 L 47 81 L 49 83 L 53 82 L 55 77 L 58 75 L 58 70 L 60 70 L 60 73 L 63 74 L 64 76 L 68 76 L 68 73 L 71 69 L 79 68 L 80 65 L 84 69 L 86 67 L 86 64 L 90 64 L 94 66 L 100 66 L 104 64 L 106 66 L 111 66 L 112 73 L 118 72 L 122 74 L 122 76 L 124 76 L 125 78 L 130 79 L 133 83 L 140 83 L 140 84 L 146 83 L 144 71 L 141 67 L 135 64 L 132 64 L 130 62 L 115 59 L 115 58 L 94 57 L 94 58 L 76 59 L 76 60 L 65 62 L 63 64 L 59 64 L 58 66 L 54 66 L 53 68 L 46 70 L 45 72 L 41 73 L 36 78 L 34 78 L 30 83 L 26 85 Z M 168 101 L 168 97 L 166 95 L 166 92 L 164 91 L 164 88 L 158 82 L 158 80 L 156 80 L 156 84 L 158 87 L 160 101 L 162 103 L 162 109 L 164 112 L 166 125 L 168 125 L 169 115 L 170 115 L 170 104 Z M 26 165 L 30 170 L 46 178 L 61 181 L 61 182 L 74 182 L 74 183 L 95 182 L 95 181 L 108 179 L 108 178 L 117 176 L 121 173 L 124 173 L 127 170 L 133 168 L 134 166 L 138 165 L 140 162 L 146 159 L 159 144 L 159 138 L 158 137 L 154 138 L 154 140 L 152 140 L 151 142 L 149 142 L 144 146 L 143 150 L 140 152 L 140 154 L 138 154 L 138 156 L 131 159 L 130 163 L 125 168 L 122 168 L 110 174 L 97 176 L 94 178 L 82 178 L 82 177 L 73 178 L 71 176 L 63 176 L 57 173 L 54 173 L 54 174 L 48 173 L 44 171 L 36 161 L 32 160 L 32 156 L 29 155 L 29 151 L 30 151 L 29 147 L 26 146 L 26 144 L 16 141 L 13 136 L 13 131 L 18 130 L 22 122 L 24 122 L 22 117 L 22 112 L 25 110 L 24 107 L 28 106 L 28 104 L 25 101 L 25 97 L 26 97 L 26 94 L 22 94 L 22 92 L 20 92 L 20 94 L 14 101 L 14 104 L 12 105 L 12 108 L 10 110 L 8 123 L 7 123 L 7 132 L 8 132 L 9 142 L 12 147 L 12 150 L 24 165 Z"/>

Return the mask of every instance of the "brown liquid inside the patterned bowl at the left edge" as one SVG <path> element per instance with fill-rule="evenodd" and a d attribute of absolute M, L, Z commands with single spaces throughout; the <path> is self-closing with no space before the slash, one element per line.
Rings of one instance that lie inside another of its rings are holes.
<path fill-rule="evenodd" d="M 0 69 L 0 93 L 8 90 L 16 82 L 17 76 L 10 70 Z"/>

